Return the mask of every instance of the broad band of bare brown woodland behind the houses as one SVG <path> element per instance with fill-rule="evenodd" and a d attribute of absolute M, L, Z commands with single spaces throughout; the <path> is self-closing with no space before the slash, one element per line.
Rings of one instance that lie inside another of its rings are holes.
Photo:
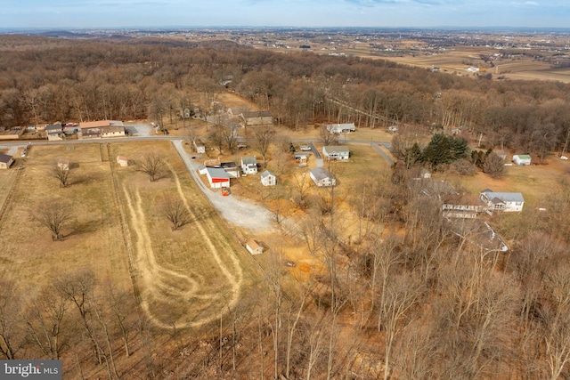
<path fill-rule="evenodd" d="M 354 121 L 467 127 L 543 157 L 566 143 L 568 85 L 431 73 L 383 60 L 280 54 L 230 42 L 120 42 L 3 36 L 0 125 L 179 115 L 235 91 L 281 125 Z M 10 48 L 8 42 L 12 42 Z M 15 42 L 14 42 L 15 40 Z M 30 44 L 43 48 L 32 48 Z M 54 42 L 55 41 L 55 42 Z M 53 47 L 50 47 L 53 44 Z M 224 85 L 221 83 L 224 82 Z M 226 86 L 228 88 L 226 88 Z"/>

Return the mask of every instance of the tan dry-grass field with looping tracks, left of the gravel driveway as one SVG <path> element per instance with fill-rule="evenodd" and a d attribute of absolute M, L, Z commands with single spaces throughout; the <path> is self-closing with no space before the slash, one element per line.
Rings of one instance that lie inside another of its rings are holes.
<path fill-rule="evenodd" d="M 133 160 L 149 151 L 167 162 L 157 182 L 114 159 Z M 58 158 L 71 163 L 67 188 L 51 175 Z M 133 275 L 142 310 L 164 328 L 200 327 L 255 293 L 259 275 L 248 254 L 191 181 L 170 142 L 35 146 L 21 172 L 16 182 L 15 170 L 0 176 L 0 185 L 15 186 L 2 219 L 0 276 L 28 292 L 56 274 L 82 269 L 122 288 L 132 288 Z M 191 213 L 183 230 L 171 231 L 160 214 L 166 195 L 181 198 Z M 54 201 L 74 215 L 63 231 L 66 238 L 55 242 L 31 216 Z"/>

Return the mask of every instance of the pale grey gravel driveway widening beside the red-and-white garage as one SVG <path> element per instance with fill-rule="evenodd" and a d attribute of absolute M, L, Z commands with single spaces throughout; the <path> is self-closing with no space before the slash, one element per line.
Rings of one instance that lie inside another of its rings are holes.
<path fill-rule="evenodd" d="M 172 141 L 178 154 L 182 157 L 184 164 L 188 168 L 192 179 L 202 192 L 208 197 L 212 206 L 224 216 L 224 218 L 234 225 L 246 227 L 249 230 L 269 230 L 273 228 L 274 217 L 271 212 L 262 206 L 257 206 L 247 200 L 235 197 L 224 197 L 220 190 L 209 189 L 201 181 L 198 174 L 198 166 L 191 159 L 183 148 L 183 141 Z"/>

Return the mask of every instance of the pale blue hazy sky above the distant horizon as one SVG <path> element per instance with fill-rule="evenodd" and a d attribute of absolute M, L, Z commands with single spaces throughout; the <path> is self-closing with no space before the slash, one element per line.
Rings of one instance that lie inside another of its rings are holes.
<path fill-rule="evenodd" d="M 570 28 L 570 0 L 0 0 L 0 28 Z"/>

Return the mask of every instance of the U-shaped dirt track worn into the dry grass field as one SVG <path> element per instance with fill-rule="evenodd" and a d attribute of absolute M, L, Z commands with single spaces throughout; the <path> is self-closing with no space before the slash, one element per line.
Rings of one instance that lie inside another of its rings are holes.
<path fill-rule="evenodd" d="M 191 217 L 196 219 L 196 214 L 192 210 L 188 199 L 184 196 L 177 174 L 171 168 L 170 171 L 175 179 L 179 197 L 183 200 L 184 206 L 190 212 Z M 221 279 L 225 281 L 224 288 L 227 290 L 223 293 L 204 285 L 204 279 L 199 274 L 199 268 L 183 272 L 168 269 L 165 265 L 159 263 L 157 255 L 152 248 L 151 235 L 147 227 L 148 224 L 142 208 L 142 198 L 139 190 L 126 188 L 123 190 L 131 227 L 136 235 L 135 260 L 139 279 L 141 280 L 141 306 L 151 322 L 162 328 L 184 328 L 201 327 L 219 318 L 217 312 L 209 312 L 207 313 L 208 315 L 202 316 L 203 310 L 196 310 L 195 307 L 195 304 L 201 304 L 197 302 L 200 300 L 208 301 L 207 304 L 224 304 L 224 309 L 231 310 L 240 298 L 243 282 L 243 271 L 238 259 L 235 255 L 232 255 L 232 247 L 229 247 L 224 241 L 216 241 L 216 244 L 214 244 L 212 237 L 209 236 L 201 222 L 192 224 L 192 228 L 199 230 L 200 239 L 208 247 L 208 252 L 201 254 L 212 258 L 219 269 Z M 153 306 L 151 306 L 156 301 L 159 301 L 159 304 L 163 307 L 165 304 L 171 305 L 173 310 L 180 310 L 181 307 L 187 305 L 187 311 L 192 315 L 184 315 L 185 318 L 181 316 L 174 322 L 168 322 L 159 317 L 159 313 L 154 311 Z M 192 318 L 192 316 L 196 315 L 200 317 Z M 187 320 L 189 318 L 192 319 Z"/>

